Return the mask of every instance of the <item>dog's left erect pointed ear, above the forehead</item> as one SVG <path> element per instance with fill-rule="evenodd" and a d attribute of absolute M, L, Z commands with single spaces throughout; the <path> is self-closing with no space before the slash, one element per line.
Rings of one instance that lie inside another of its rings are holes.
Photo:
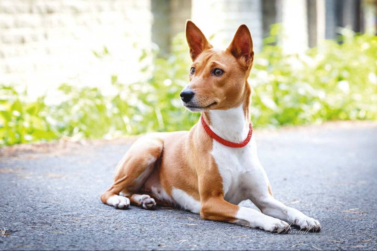
<path fill-rule="evenodd" d="M 212 48 L 201 30 L 191 20 L 187 20 L 186 23 L 186 39 L 190 47 L 192 61 L 195 61 L 204 50 Z"/>

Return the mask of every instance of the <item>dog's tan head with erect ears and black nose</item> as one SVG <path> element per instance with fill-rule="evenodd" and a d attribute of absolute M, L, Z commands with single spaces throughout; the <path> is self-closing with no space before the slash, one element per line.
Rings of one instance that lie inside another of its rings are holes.
<path fill-rule="evenodd" d="M 182 90 L 183 105 L 190 111 L 227 110 L 247 102 L 247 78 L 253 65 L 253 41 L 242 24 L 226 50 L 213 49 L 201 30 L 186 23 L 192 65 L 190 83 Z"/>

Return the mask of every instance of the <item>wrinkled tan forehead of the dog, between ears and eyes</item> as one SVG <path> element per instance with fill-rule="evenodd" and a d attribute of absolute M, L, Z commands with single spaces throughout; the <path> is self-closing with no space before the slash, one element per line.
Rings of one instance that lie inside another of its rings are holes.
<path fill-rule="evenodd" d="M 229 67 L 233 64 L 237 64 L 237 61 L 227 50 L 208 49 L 195 59 L 193 65 L 195 65 L 196 68 L 201 68 L 216 63 L 224 65 L 224 67 Z"/>

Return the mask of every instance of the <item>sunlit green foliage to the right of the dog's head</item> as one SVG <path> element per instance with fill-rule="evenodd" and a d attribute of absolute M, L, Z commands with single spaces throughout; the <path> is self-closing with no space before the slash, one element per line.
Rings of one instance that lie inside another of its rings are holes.
<path fill-rule="evenodd" d="M 377 119 L 376 36 L 344 29 L 341 44 L 327 40 L 305 55 L 265 45 L 255 58 L 249 81 L 256 125 Z"/>

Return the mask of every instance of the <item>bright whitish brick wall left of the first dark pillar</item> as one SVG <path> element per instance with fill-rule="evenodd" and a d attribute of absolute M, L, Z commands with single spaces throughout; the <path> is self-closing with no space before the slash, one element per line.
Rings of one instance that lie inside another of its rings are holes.
<path fill-rule="evenodd" d="M 132 82 L 151 23 L 150 0 L 0 0 L 0 83 L 40 95 L 62 82 L 108 86 L 112 74 Z"/>

